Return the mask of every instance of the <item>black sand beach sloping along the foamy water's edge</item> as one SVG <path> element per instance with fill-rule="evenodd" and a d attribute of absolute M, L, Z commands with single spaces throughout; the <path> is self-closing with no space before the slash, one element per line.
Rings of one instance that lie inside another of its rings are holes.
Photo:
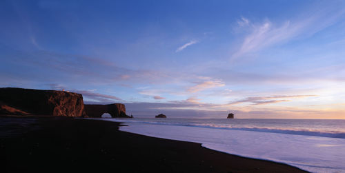
<path fill-rule="evenodd" d="M 304 172 L 118 130 L 120 123 L 57 116 L 0 117 L 4 172 Z M 2 172 L 2 171 L 1 171 Z"/>

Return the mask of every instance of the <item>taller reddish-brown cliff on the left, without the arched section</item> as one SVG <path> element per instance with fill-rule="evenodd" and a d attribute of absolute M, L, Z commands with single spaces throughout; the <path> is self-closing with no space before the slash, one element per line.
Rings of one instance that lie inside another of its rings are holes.
<path fill-rule="evenodd" d="M 81 94 L 23 88 L 0 88 L 0 114 L 86 115 Z"/>

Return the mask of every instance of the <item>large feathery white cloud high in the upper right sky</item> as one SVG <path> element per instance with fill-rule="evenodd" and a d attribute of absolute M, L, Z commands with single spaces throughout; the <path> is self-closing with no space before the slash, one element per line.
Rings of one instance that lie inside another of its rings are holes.
<path fill-rule="evenodd" d="M 311 15 L 312 14 L 312 15 Z M 344 10 L 334 10 L 324 6 L 324 9 L 313 9 L 300 17 L 283 22 L 271 22 L 265 19 L 262 23 L 252 23 L 245 17 L 237 21 L 239 27 L 248 27 L 250 32 L 244 37 L 242 45 L 233 53 L 232 59 L 257 52 L 271 45 L 285 43 L 299 36 L 308 37 L 324 28 L 331 26 Z"/>

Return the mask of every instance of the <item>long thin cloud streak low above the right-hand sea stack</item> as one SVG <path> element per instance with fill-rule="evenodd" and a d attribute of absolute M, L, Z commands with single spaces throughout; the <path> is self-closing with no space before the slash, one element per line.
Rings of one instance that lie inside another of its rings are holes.
<path fill-rule="evenodd" d="M 239 103 L 252 103 L 252 105 L 266 105 L 270 103 L 290 101 L 290 100 L 277 100 L 277 99 L 303 98 L 303 97 L 309 97 L 309 96 L 317 96 L 317 95 L 253 96 L 253 97 L 247 97 L 246 99 L 242 99 L 239 101 L 232 101 L 228 103 L 228 105 L 236 105 Z"/>

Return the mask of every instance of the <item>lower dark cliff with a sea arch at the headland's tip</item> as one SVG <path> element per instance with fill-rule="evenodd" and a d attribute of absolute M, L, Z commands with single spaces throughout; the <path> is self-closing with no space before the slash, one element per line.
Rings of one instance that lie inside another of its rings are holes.
<path fill-rule="evenodd" d="M 102 114 L 108 113 L 112 118 L 132 118 L 126 114 L 126 107 L 121 103 L 110 105 L 85 105 L 86 115 L 88 117 L 101 118 Z"/>

